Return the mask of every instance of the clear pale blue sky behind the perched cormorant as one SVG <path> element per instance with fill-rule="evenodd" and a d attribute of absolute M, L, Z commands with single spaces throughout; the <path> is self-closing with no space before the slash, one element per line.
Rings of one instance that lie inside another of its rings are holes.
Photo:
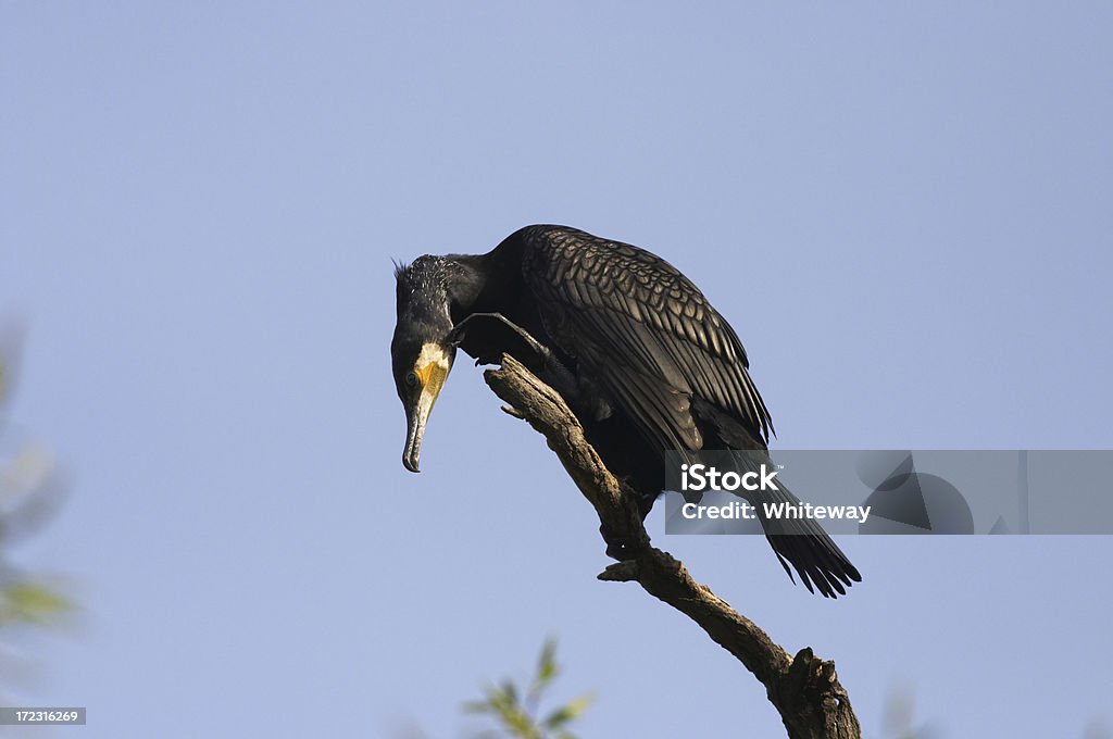
<path fill-rule="evenodd" d="M 782 736 L 631 585 L 460 363 L 402 469 L 391 259 L 529 223 L 651 248 L 738 331 L 785 449 L 1109 449 L 1109 3 L 0 4 L 11 416 L 73 494 L 21 551 L 90 736 L 466 736 L 560 638 L 587 737 Z M 837 602 L 759 538 L 654 541 L 869 736 L 1109 727 L 1105 536 L 850 538 Z M 1104 712 L 1103 712 L 1104 711 Z M 692 728 L 695 727 L 695 729 Z M 59 732 L 60 733 L 60 732 Z"/>

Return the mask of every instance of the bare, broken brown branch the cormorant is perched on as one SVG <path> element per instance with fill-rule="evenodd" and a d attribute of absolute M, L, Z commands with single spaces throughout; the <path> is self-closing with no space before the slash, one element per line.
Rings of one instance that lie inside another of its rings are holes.
<path fill-rule="evenodd" d="M 834 662 L 816 657 L 810 648 L 789 656 L 757 624 L 696 582 L 682 562 L 650 544 L 633 492 L 608 471 L 556 391 L 509 355 L 503 355 L 501 368 L 483 374 L 491 390 L 510 404 L 504 410 L 544 435 L 600 522 L 628 542 L 632 559 L 610 565 L 600 580 L 637 581 L 698 623 L 761 681 L 790 739 L 860 739 L 861 728 Z"/>

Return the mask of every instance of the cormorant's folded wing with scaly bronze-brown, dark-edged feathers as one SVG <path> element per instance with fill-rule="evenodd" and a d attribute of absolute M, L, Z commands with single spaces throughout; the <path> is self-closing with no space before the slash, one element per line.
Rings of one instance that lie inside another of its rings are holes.
<path fill-rule="evenodd" d="M 702 446 L 693 395 L 768 441 L 741 342 L 676 267 L 572 228 L 535 226 L 524 237 L 524 275 L 549 333 L 666 449 Z"/>

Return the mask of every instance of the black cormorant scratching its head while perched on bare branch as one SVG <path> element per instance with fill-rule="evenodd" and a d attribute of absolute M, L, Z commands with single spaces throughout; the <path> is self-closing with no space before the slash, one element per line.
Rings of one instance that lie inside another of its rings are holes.
<path fill-rule="evenodd" d="M 687 277 L 644 249 L 526 226 L 487 254 L 418 257 L 395 277 L 391 356 L 411 472 L 457 346 L 476 364 L 510 354 L 560 392 L 607 466 L 638 492 L 642 518 L 664 485 L 666 451 L 765 455 L 772 423 L 738 335 Z M 798 502 L 782 492 L 779 500 Z M 814 521 L 778 525 L 794 533 L 769 543 L 809 591 L 814 583 L 834 598 L 861 580 Z M 623 559 L 622 542 L 603 535 L 608 554 Z"/>

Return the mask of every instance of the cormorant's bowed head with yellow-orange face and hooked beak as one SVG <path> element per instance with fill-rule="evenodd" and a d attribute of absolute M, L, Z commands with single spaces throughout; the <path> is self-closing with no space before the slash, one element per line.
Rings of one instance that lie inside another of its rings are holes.
<path fill-rule="evenodd" d="M 439 262 L 437 257 L 421 257 L 395 270 L 398 318 L 391 341 L 391 365 L 406 412 L 402 464 L 411 472 L 420 471 L 425 424 L 456 355 L 449 338 L 452 316 Z"/>

